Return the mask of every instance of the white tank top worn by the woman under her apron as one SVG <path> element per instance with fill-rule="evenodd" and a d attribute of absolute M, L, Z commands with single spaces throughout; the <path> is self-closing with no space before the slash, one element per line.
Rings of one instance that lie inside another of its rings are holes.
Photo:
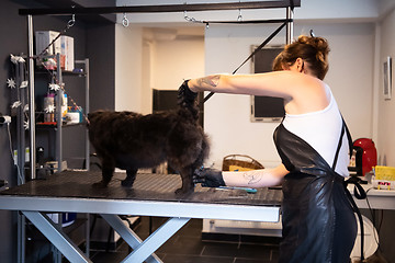
<path fill-rule="evenodd" d="M 283 125 L 289 132 L 304 139 L 329 167 L 332 167 L 341 134 L 342 118 L 329 87 L 325 85 L 325 89 L 330 98 L 326 108 L 306 114 L 285 114 Z M 335 171 L 342 176 L 349 176 L 348 165 L 349 141 L 345 133 Z"/>

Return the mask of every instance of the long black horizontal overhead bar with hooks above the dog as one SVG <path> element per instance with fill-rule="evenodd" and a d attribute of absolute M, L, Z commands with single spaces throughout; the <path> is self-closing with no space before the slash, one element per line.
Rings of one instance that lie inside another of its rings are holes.
<path fill-rule="evenodd" d="M 129 5 L 129 7 L 99 7 L 69 9 L 20 9 L 21 15 L 68 15 L 68 14 L 109 14 L 109 13 L 160 13 L 184 11 L 215 11 L 238 9 L 275 9 L 290 5 L 301 7 L 301 0 L 253 1 L 253 2 L 223 2 L 196 4 L 165 4 L 165 5 Z"/>

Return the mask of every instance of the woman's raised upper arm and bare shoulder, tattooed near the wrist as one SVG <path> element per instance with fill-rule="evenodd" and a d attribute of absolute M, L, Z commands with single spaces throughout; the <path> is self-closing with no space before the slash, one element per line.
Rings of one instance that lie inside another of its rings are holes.
<path fill-rule="evenodd" d="M 319 79 L 283 70 L 256 75 L 212 75 L 188 81 L 193 92 L 212 91 L 284 99 L 285 112 L 303 114 L 325 108 L 329 101 Z"/>

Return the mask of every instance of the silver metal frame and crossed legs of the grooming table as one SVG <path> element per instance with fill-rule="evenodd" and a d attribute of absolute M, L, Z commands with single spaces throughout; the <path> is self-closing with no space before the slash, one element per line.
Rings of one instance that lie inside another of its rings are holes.
<path fill-rule="evenodd" d="M 279 206 L 20 195 L 0 195 L 0 209 L 22 211 L 70 262 L 77 263 L 92 261 L 45 213 L 75 211 L 101 215 L 133 249 L 122 261 L 124 263 L 161 262 L 154 252 L 191 218 L 279 221 L 280 215 Z M 157 216 L 169 219 L 143 241 L 122 222 L 119 215 Z"/>

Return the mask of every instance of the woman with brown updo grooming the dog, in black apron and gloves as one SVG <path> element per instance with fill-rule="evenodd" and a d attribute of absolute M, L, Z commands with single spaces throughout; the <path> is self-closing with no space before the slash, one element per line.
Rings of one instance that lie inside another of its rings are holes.
<path fill-rule="evenodd" d="M 180 88 L 192 96 L 213 91 L 284 99 L 285 117 L 274 132 L 282 164 L 249 172 L 202 169 L 195 174 L 196 182 L 212 187 L 282 183 L 280 262 L 349 262 L 357 236 L 343 187 L 350 141 L 335 98 L 323 82 L 328 53 L 325 38 L 300 36 L 275 58 L 273 72 L 207 76 Z"/>

